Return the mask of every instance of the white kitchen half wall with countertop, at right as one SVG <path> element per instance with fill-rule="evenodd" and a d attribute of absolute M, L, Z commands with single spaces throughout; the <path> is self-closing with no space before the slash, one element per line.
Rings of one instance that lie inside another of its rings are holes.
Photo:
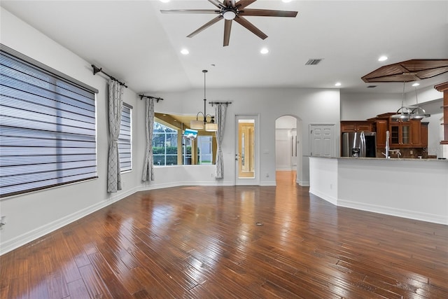
<path fill-rule="evenodd" d="M 309 193 L 340 207 L 448 225 L 448 160 L 309 157 Z"/>

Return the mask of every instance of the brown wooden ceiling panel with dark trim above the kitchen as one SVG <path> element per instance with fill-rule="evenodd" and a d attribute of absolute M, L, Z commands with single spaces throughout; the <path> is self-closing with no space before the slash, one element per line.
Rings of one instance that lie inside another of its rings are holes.
<path fill-rule="evenodd" d="M 448 72 L 447 60 L 406 60 L 388 64 L 361 77 L 365 83 L 411 82 Z"/>

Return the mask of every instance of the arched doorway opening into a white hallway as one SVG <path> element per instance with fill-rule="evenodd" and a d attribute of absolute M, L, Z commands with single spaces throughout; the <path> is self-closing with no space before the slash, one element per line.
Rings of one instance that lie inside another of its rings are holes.
<path fill-rule="evenodd" d="M 281 116 L 275 120 L 276 176 L 292 172 L 295 183 L 302 178 L 302 120 L 297 116 Z"/>

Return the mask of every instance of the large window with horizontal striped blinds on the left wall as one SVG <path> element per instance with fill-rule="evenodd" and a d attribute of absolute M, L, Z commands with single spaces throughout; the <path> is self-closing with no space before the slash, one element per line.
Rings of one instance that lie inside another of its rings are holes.
<path fill-rule="evenodd" d="M 97 177 L 97 90 L 0 50 L 0 197 Z"/>

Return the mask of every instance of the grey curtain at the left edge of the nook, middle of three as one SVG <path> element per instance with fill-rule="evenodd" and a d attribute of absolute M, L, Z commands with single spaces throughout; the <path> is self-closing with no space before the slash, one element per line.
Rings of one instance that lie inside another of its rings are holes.
<path fill-rule="evenodd" d="M 153 167 L 153 130 L 154 130 L 154 99 L 146 99 L 146 148 L 143 165 L 142 181 L 154 181 Z"/>

